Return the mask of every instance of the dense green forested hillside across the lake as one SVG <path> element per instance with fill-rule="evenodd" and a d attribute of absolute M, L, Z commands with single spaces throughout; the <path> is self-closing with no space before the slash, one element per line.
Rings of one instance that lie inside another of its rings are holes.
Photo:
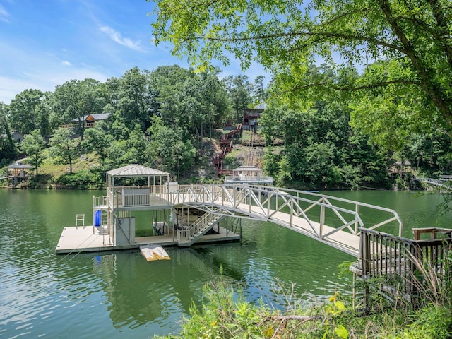
<path fill-rule="evenodd" d="M 308 76 L 347 83 L 363 75 L 311 66 Z M 263 76 L 251 81 L 243 75 L 221 78 L 218 69 L 160 66 L 133 68 L 105 83 L 69 80 L 52 93 L 24 90 L 10 105 L 1 103 L 0 165 L 27 157 L 38 174 L 30 186 L 100 187 L 102 173 L 131 163 L 170 172 L 179 182 L 221 181 L 211 160 L 222 126 L 241 122 L 243 109 L 266 102 L 259 120 L 265 141 L 259 165 L 280 186 L 391 188 L 396 176 L 388 169 L 398 161 L 409 161 L 418 174 L 452 170 L 450 138 L 441 130 L 406 130 L 398 133 L 403 141 L 378 143 L 369 138 L 369 126 L 350 124 L 357 102 L 340 90 L 313 93 L 309 105 L 287 105 L 278 100 L 273 81 L 264 83 Z M 89 126 L 88 114 L 108 119 Z M 25 135 L 20 145 L 13 131 Z M 242 142 L 242 153 L 251 152 L 247 146 Z M 58 164 L 64 170 L 55 170 Z M 406 186 L 410 175 L 399 178 L 398 186 Z"/>

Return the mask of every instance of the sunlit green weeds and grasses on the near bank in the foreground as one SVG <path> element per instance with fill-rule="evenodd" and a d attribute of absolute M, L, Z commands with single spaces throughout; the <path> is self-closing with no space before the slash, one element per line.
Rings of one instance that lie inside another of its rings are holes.
<path fill-rule="evenodd" d="M 180 335 L 154 338 L 447 339 L 452 335 L 450 290 L 438 295 L 439 302 L 425 299 L 419 309 L 403 299 L 393 303 L 377 294 L 371 308 L 354 309 L 348 294 L 335 292 L 327 300 L 307 302 L 293 286 L 275 282 L 275 290 L 285 301 L 278 309 L 263 301 L 247 302 L 240 288 L 224 279 L 213 281 L 204 287 L 202 306 L 191 305 Z"/>

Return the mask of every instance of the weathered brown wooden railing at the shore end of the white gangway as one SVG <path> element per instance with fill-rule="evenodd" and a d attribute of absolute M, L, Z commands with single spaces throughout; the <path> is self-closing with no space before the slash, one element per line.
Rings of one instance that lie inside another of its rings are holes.
<path fill-rule="evenodd" d="M 452 239 L 412 240 L 374 230 L 361 230 L 359 259 L 351 270 L 364 279 L 383 283 L 385 292 L 408 300 L 429 286 L 431 272 L 450 276 L 445 258 L 451 253 Z"/>

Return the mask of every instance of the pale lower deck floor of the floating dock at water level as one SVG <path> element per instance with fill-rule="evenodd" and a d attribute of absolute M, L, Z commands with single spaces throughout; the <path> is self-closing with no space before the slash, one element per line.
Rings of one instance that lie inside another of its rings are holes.
<path fill-rule="evenodd" d="M 94 230 L 93 230 L 94 229 Z M 218 234 L 206 234 L 195 244 L 215 242 L 237 242 L 240 235 L 224 227 L 219 227 Z M 80 252 L 115 251 L 120 249 L 138 249 L 140 245 L 157 244 L 162 246 L 178 246 L 176 234 L 157 235 L 153 237 L 136 237 L 135 244 L 115 246 L 108 234 L 102 234 L 102 228 L 93 226 L 64 227 L 57 244 L 57 254 L 76 254 Z"/>

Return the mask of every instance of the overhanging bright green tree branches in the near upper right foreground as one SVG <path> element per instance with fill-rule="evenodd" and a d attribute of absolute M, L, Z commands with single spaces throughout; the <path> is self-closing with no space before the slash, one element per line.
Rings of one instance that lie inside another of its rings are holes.
<path fill-rule="evenodd" d="M 398 124 L 383 114 L 391 112 L 399 121 L 408 119 L 408 127 L 452 133 L 448 0 L 248 0 L 234 6 L 227 0 L 158 0 L 155 8 L 155 42 L 171 42 L 173 54 L 201 69 L 213 58 L 228 64 L 231 53 L 243 69 L 258 61 L 273 72 L 275 93 L 291 103 L 331 89 L 352 90 L 353 100 L 366 95 L 371 109 L 380 106 L 381 95 L 391 105 L 405 97 L 401 105 L 407 109 L 384 109 L 376 119 L 382 125 L 387 120 L 387 128 L 396 132 Z M 339 70 L 377 62 L 354 83 L 335 83 L 321 74 L 307 82 L 304 74 L 318 59 Z M 365 118 L 354 115 L 362 124 Z"/>

